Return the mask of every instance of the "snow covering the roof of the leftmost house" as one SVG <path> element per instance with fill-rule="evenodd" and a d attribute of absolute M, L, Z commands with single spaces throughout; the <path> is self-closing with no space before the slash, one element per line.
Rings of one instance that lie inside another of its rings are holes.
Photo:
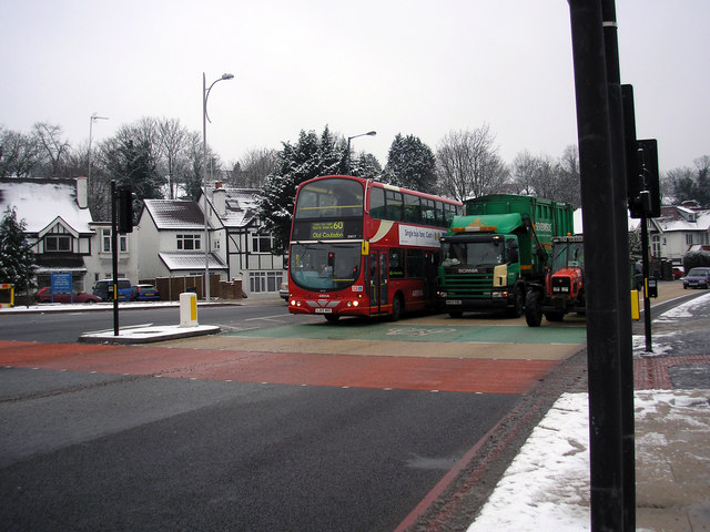
<path fill-rule="evenodd" d="M 0 215 L 8 206 L 16 207 L 28 233 L 40 233 L 57 217 L 78 233 L 91 233 L 91 213 L 79 208 L 74 180 L 1 180 Z"/>

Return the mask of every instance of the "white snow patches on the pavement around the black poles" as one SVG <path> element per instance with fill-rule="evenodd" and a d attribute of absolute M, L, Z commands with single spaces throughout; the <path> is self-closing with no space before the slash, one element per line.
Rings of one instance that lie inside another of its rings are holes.
<path fill-rule="evenodd" d="M 710 303 L 710 294 L 663 313 L 658 321 L 688 319 Z M 676 334 L 653 336 L 653 355 L 668 352 Z M 635 352 L 645 349 L 643 336 L 633 338 Z M 694 390 L 696 392 L 698 390 Z M 641 390 L 635 393 L 636 452 L 639 461 L 658 457 L 666 434 L 643 432 L 643 420 L 668 423 L 682 420 L 698 424 L 691 410 L 698 397 L 684 390 Z M 702 402 L 702 401 L 700 401 Z M 701 405 L 708 409 L 707 400 Z M 496 485 L 468 532 L 515 530 L 518 532 L 589 530 L 589 406 L 587 393 L 564 393 L 535 428 L 520 452 Z M 704 415 L 707 417 L 707 415 Z M 708 430 L 700 423 L 698 430 Z M 647 530 L 647 529 L 637 529 Z"/>

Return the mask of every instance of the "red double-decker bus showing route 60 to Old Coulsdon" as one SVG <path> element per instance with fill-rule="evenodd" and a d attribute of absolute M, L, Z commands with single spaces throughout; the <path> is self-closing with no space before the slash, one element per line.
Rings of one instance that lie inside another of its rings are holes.
<path fill-rule="evenodd" d="M 439 238 L 462 204 L 372 180 L 327 175 L 296 192 L 288 310 L 398 319 L 436 306 Z"/>

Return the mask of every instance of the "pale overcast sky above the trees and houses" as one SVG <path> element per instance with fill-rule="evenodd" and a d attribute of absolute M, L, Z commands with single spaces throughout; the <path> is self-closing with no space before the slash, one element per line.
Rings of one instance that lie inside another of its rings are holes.
<path fill-rule="evenodd" d="M 617 0 L 623 83 L 661 171 L 710 155 L 710 1 Z M 384 165 L 397 133 L 433 150 L 484 123 L 510 163 L 576 144 L 565 0 L 0 0 L 0 124 L 59 124 L 74 146 L 142 116 L 202 132 L 225 162 L 301 130 Z"/>

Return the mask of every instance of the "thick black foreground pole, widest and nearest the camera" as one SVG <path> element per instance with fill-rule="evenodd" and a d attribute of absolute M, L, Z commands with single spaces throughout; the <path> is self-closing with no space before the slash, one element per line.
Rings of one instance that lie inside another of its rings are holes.
<path fill-rule="evenodd" d="M 591 530 L 623 530 L 620 406 L 620 226 L 613 185 L 607 64 L 600 0 L 569 0 L 581 173 L 589 369 Z M 610 275 L 610 273 L 613 273 Z M 628 294 L 627 294 L 628 297 Z"/>

